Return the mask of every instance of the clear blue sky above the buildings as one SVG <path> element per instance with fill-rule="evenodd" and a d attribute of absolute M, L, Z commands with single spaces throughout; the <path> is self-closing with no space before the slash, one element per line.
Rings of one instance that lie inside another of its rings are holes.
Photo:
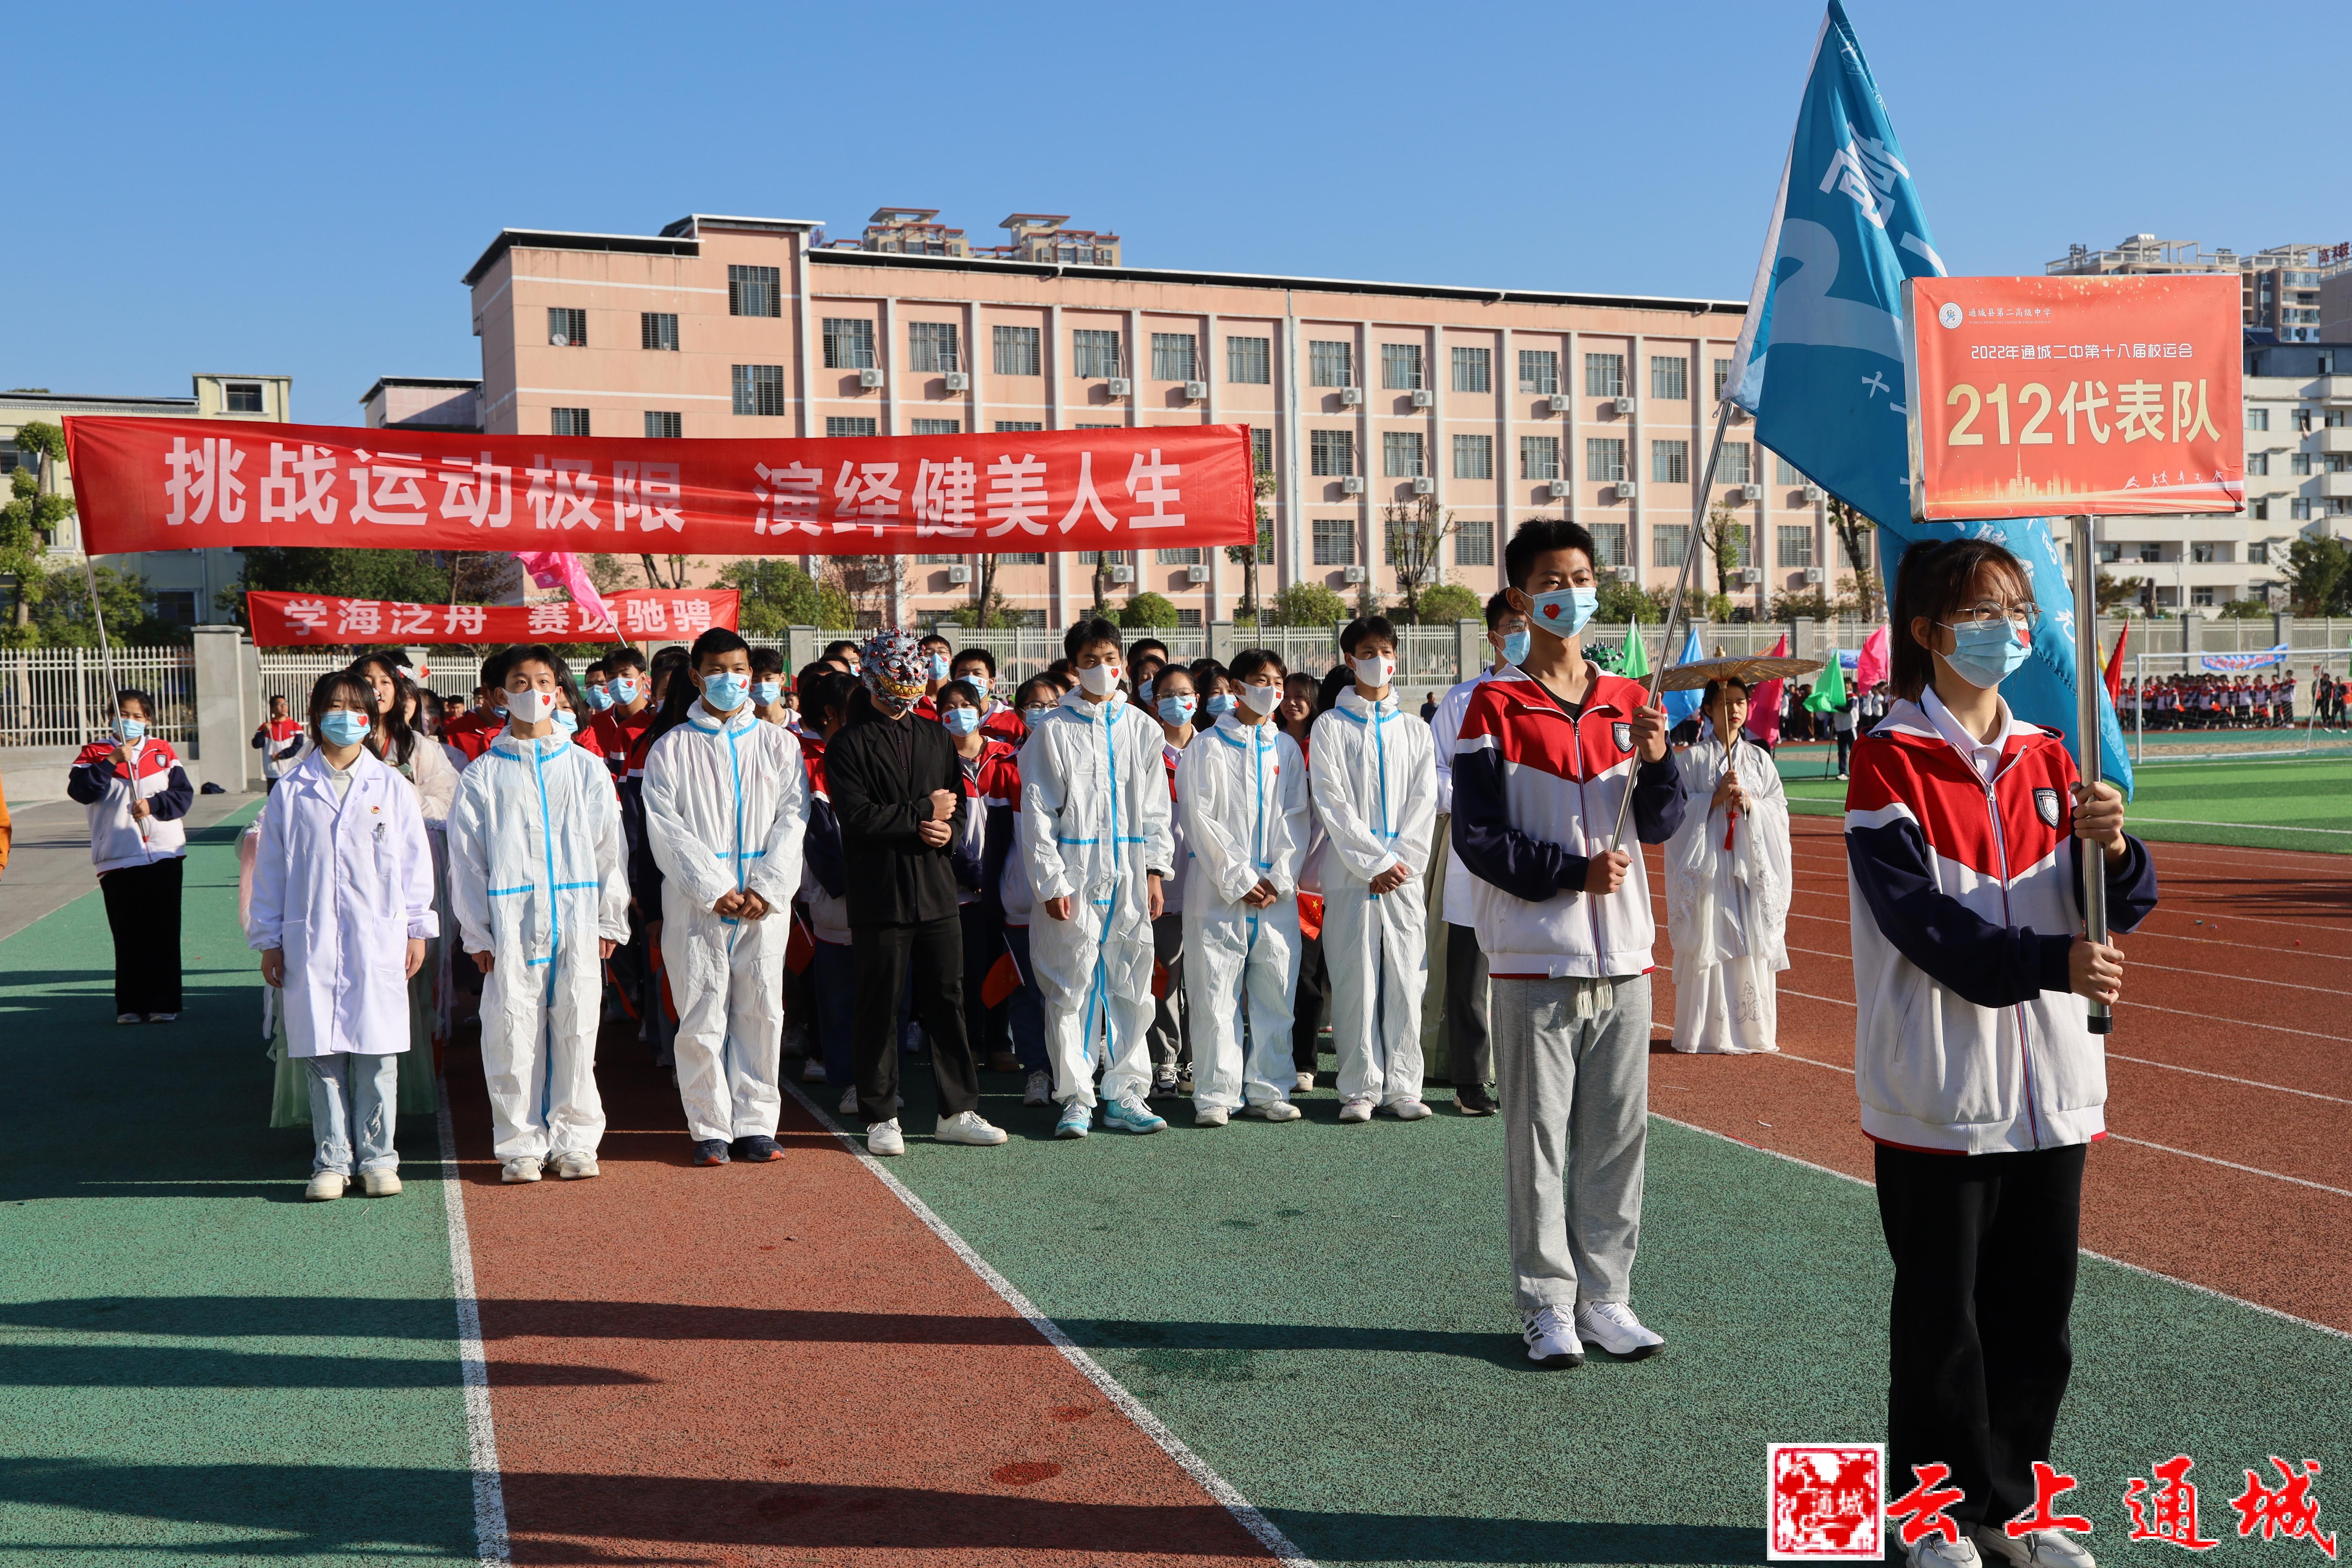
<path fill-rule="evenodd" d="M 1938 249 L 2352 237 L 2326 89 L 2211 5 L 1851 0 Z M 9 19 L 0 386 L 473 376 L 499 228 L 941 207 L 1136 266 L 1743 296 L 1820 9 L 40 7 Z M 2251 113 L 2249 113 L 2251 110 Z"/>

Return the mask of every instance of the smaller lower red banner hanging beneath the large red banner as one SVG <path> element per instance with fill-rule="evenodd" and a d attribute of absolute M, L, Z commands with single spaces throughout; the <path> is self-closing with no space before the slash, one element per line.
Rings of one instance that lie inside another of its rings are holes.
<path fill-rule="evenodd" d="M 400 604 L 322 592 L 249 592 L 254 646 L 350 646 L 390 642 L 694 642 L 713 625 L 734 630 L 734 588 L 630 588 L 609 592 L 612 616 L 572 599 L 546 604 Z"/>

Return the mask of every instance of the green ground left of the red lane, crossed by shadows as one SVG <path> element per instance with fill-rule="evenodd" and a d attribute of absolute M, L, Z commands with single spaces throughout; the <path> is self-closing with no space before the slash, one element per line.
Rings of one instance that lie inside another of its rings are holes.
<path fill-rule="evenodd" d="M 299 1201 L 245 816 L 188 853 L 181 1023 L 113 1025 L 96 893 L 0 943 L 0 1563 L 473 1561 L 433 1121 L 402 1197 Z"/>

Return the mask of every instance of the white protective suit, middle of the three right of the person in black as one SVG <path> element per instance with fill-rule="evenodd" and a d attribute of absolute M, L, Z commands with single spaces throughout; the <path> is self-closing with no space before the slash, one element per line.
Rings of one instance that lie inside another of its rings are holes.
<path fill-rule="evenodd" d="M 1192 1105 L 1235 1112 L 1244 1100 L 1287 1100 L 1296 1081 L 1298 867 L 1315 823 L 1305 757 L 1272 719 L 1242 724 L 1228 712 L 1183 750 L 1176 799 L 1192 851 L 1183 910 Z M 1242 893 L 1261 879 L 1282 898 L 1254 910 Z"/>

